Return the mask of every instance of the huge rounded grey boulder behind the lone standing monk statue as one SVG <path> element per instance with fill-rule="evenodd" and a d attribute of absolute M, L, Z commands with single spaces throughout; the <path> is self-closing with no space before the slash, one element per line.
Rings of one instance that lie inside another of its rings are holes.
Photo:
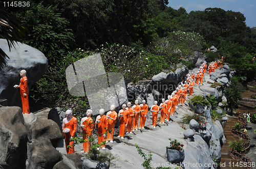
<path fill-rule="evenodd" d="M 8 106 L 22 106 L 18 89 L 13 88 L 20 81 L 20 70 L 27 71 L 28 86 L 31 86 L 45 74 L 48 60 L 39 50 L 19 43 L 9 50 L 7 41 L 0 39 L 0 48 L 8 55 L 7 66 L 0 74 L 0 100 L 7 99 Z"/>

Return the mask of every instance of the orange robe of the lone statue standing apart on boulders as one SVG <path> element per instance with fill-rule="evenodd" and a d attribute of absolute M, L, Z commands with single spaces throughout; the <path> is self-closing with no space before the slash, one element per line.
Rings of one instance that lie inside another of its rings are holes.
<path fill-rule="evenodd" d="M 25 114 L 30 114 L 29 110 L 29 87 L 28 87 L 28 78 L 22 77 L 20 79 L 19 84 L 19 92 L 20 92 L 20 98 L 22 99 L 22 112 Z M 27 94 L 27 97 L 24 97 L 24 93 Z"/>

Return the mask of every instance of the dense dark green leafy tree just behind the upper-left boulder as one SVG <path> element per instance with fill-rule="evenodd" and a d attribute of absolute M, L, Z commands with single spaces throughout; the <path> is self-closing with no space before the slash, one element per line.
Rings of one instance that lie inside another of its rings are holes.
<path fill-rule="evenodd" d="M 74 41 L 72 30 L 67 29 L 69 22 L 60 17 L 56 6 L 31 4 L 26 11 L 19 11 L 18 16 L 29 30 L 24 43 L 44 53 L 50 64 L 61 59 Z"/>

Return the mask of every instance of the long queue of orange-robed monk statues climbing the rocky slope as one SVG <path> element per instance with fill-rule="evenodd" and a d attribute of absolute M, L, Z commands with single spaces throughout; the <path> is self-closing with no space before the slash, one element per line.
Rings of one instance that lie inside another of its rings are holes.
<path fill-rule="evenodd" d="M 211 62 L 208 67 L 208 72 L 214 72 L 215 69 L 218 69 L 222 66 L 222 61 Z M 203 63 L 196 76 L 189 72 L 187 74 L 187 79 L 185 83 L 183 81 L 180 83 L 178 88 L 173 91 L 172 95 L 168 95 L 167 100 L 162 99 L 162 103 L 158 106 L 157 101 L 155 101 L 154 105 L 150 108 L 150 114 L 152 112 L 152 127 L 156 128 L 157 116 L 160 111 L 160 122 L 165 123 L 165 121 L 170 121 L 170 116 L 174 116 L 175 109 L 180 104 L 184 104 L 186 102 L 187 91 L 189 91 L 189 95 L 193 95 L 194 85 L 203 85 L 202 81 L 204 78 L 204 74 L 206 73 L 207 65 L 206 62 Z M 194 79 L 196 78 L 196 83 Z M 177 112 L 176 112 L 177 113 Z M 99 110 L 99 116 L 97 116 L 95 123 L 91 118 L 92 110 L 87 110 L 87 117 L 81 119 L 81 127 L 80 132 L 82 130 L 83 139 L 85 140 L 83 143 L 83 152 L 90 152 L 91 143 L 88 140 L 92 136 L 93 128 L 98 128 L 98 144 L 101 143 L 113 143 L 114 139 L 114 128 L 116 119 L 120 121 L 119 127 L 119 135 L 121 139 L 124 139 L 124 135 L 133 133 L 133 131 L 138 129 L 144 129 L 146 117 L 148 114 L 148 106 L 146 101 L 143 100 L 142 104 L 139 104 L 138 100 L 135 100 L 135 105 L 132 106 L 131 102 L 126 104 L 122 104 L 122 109 L 119 110 L 118 114 L 115 111 L 115 106 L 111 105 L 110 111 L 104 115 L 104 109 Z M 177 113 L 178 114 L 178 113 Z M 74 147 L 70 138 L 74 137 L 75 132 L 77 130 L 77 119 L 72 116 L 72 111 L 66 111 L 67 118 L 63 119 L 62 122 L 62 131 L 65 135 L 65 143 L 67 153 L 74 153 Z M 140 120 L 139 120 L 140 119 Z M 68 128 L 68 131 L 65 129 Z M 70 147 L 68 147 L 70 146 Z M 103 150 L 105 149 L 105 144 L 100 146 Z M 99 148 L 98 148 L 99 149 Z"/>

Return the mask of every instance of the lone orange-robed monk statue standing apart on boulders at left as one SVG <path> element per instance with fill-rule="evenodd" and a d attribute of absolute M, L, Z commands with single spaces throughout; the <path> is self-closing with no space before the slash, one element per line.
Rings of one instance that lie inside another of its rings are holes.
<path fill-rule="evenodd" d="M 22 99 L 22 112 L 25 114 L 29 114 L 29 87 L 28 87 L 28 78 L 26 77 L 26 70 L 20 71 L 20 79 L 19 85 L 14 85 L 14 88 L 19 88 L 20 98 Z"/>

